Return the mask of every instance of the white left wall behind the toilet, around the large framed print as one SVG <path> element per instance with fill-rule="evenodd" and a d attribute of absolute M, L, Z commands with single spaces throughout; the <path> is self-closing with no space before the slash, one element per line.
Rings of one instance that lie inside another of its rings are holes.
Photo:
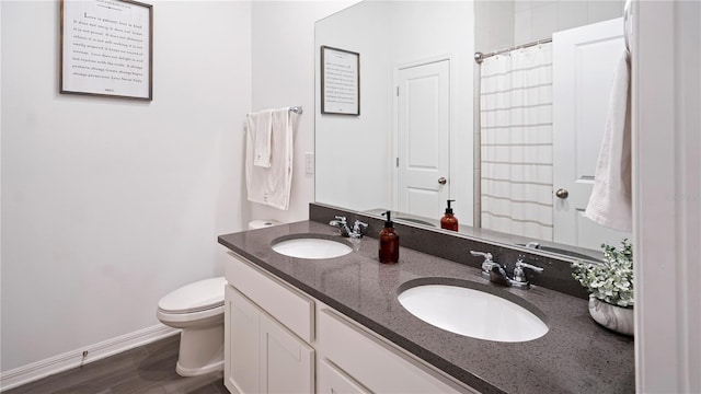
<path fill-rule="evenodd" d="M 242 229 L 251 5 L 150 3 L 152 102 L 59 94 L 59 2 L 1 3 L 3 371 L 158 324 Z"/>

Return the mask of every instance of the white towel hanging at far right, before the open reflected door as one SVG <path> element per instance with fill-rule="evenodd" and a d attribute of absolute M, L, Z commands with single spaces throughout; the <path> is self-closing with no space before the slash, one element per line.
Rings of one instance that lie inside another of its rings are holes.
<path fill-rule="evenodd" d="M 584 216 L 620 231 L 631 231 L 631 104 L 630 65 L 623 53 L 618 62 L 594 189 Z"/>

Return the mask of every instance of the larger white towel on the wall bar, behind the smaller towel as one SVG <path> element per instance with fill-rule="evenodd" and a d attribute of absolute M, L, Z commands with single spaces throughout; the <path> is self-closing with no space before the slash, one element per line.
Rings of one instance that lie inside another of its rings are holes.
<path fill-rule="evenodd" d="M 246 130 L 245 179 L 249 201 L 265 204 L 277 209 L 289 208 L 292 185 L 292 123 L 289 108 L 275 109 L 271 126 L 271 166 L 253 164 L 254 143 L 251 129 Z"/>

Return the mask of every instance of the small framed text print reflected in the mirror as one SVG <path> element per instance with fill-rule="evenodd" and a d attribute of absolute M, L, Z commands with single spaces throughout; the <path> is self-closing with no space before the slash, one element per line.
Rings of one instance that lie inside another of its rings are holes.
<path fill-rule="evenodd" d="M 321 113 L 360 115 L 360 55 L 321 47 Z"/>

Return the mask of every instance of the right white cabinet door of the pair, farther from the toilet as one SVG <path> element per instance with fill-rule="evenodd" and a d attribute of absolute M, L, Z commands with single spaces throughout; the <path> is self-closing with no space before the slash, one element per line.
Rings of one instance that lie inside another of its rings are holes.
<path fill-rule="evenodd" d="M 314 350 L 261 314 L 261 392 L 313 393 Z"/>

